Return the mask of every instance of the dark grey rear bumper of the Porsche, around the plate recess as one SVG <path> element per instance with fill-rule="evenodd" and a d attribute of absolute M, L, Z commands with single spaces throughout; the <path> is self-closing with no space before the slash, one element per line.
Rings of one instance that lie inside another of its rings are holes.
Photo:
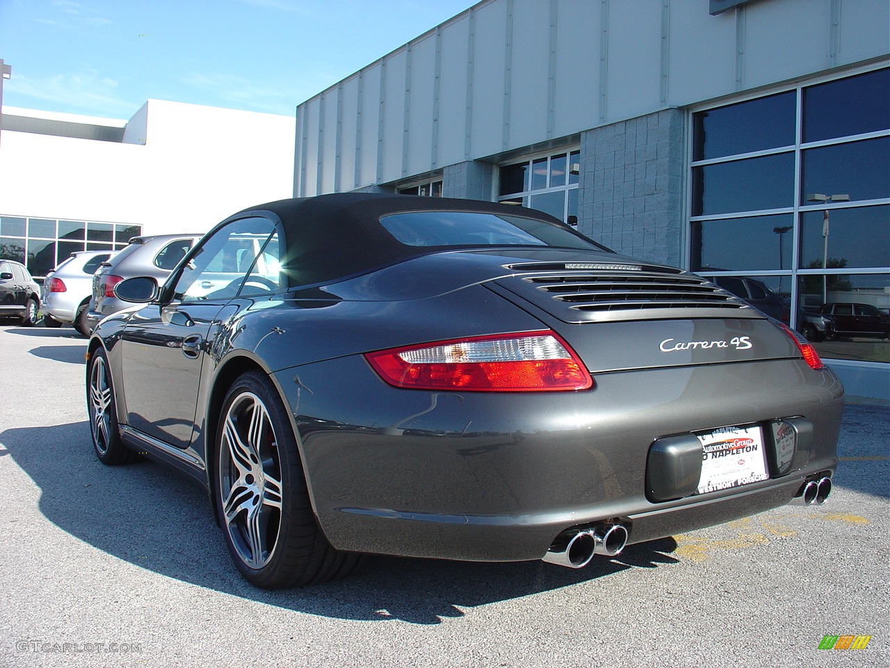
<path fill-rule="evenodd" d="M 593 390 L 546 396 L 400 390 L 360 356 L 276 379 L 335 547 L 466 560 L 542 558 L 563 530 L 606 519 L 635 543 L 781 506 L 834 470 L 843 411 L 834 374 L 800 360 L 604 373 Z M 660 436 L 794 416 L 812 441 L 789 474 L 647 500 Z"/>

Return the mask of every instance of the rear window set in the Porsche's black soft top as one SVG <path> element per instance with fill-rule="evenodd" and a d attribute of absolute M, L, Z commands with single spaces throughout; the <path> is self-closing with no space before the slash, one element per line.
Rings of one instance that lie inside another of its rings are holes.
<path fill-rule="evenodd" d="M 406 246 L 485 248 L 546 246 L 603 250 L 558 224 L 522 216 L 473 211 L 406 211 L 381 216 L 380 224 Z"/>

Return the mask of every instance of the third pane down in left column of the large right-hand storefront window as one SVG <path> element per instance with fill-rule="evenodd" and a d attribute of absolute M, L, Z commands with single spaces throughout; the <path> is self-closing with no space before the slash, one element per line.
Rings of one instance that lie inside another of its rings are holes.
<path fill-rule="evenodd" d="M 793 214 L 693 222 L 690 268 L 693 272 L 790 269 L 793 231 Z"/>

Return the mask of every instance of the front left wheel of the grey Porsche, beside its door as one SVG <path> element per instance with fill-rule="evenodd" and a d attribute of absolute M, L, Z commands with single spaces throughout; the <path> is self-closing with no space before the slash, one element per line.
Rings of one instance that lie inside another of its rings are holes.
<path fill-rule="evenodd" d="M 90 416 L 93 450 L 103 464 L 128 464 L 136 459 L 136 453 L 126 447 L 120 438 L 109 360 L 101 347 L 90 355 L 88 365 L 86 410 Z"/>

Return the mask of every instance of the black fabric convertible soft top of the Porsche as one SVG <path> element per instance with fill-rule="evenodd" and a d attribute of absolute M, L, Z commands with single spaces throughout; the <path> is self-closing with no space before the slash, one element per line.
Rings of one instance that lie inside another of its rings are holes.
<path fill-rule="evenodd" d="M 346 192 L 278 200 L 247 208 L 232 217 L 263 212 L 279 217 L 286 248 L 282 272 L 293 288 L 334 281 L 444 249 L 401 243 L 380 223 L 381 216 L 414 211 L 471 211 L 530 218 L 575 233 L 556 218 L 529 208 L 386 193 Z M 578 238 L 585 239 L 581 235 Z"/>

